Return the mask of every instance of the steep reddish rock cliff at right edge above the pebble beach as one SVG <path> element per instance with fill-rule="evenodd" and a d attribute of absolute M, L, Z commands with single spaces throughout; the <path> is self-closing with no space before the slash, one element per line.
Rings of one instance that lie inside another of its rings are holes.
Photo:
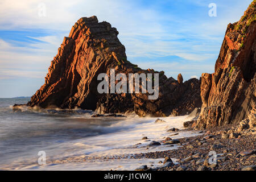
<path fill-rule="evenodd" d="M 255 110 L 255 13 L 253 1 L 239 22 L 228 25 L 215 72 L 202 74 L 196 129 L 238 123 Z"/>

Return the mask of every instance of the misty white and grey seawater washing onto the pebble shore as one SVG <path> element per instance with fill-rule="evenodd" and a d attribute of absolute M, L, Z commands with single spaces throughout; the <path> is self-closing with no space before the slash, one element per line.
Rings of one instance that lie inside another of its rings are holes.
<path fill-rule="evenodd" d="M 0 98 L 0 169 L 135 169 L 140 164 L 157 166 L 153 159 L 129 159 L 131 154 L 163 151 L 177 146 L 147 148 L 152 140 L 170 135 L 168 128 L 183 129 L 187 116 L 163 118 L 91 118 L 90 110 L 28 109 L 12 105 L 30 98 Z M 197 135 L 181 131 L 171 138 Z M 148 140 L 141 140 L 142 137 Z M 46 164 L 38 164 L 38 152 L 46 152 Z M 126 156 L 127 159 L 119 159 Z M 127 157 L 128 156 L 128 157 Z M 159 159 L 157 160 L 159 161 Z"/>

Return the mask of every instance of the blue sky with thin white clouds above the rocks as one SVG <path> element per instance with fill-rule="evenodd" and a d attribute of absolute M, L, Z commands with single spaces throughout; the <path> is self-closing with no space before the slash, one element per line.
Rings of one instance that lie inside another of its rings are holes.
<path fill-rule="evenodd" d="M 73 24 L 93 15 L 117 28 L 131 63 L 200 78 L 214 72 L 226 27 L 251 1 L 1 0 L 0 97 L 32 96 Z M 210 3 L 216 16 L 209 16 Z"/>

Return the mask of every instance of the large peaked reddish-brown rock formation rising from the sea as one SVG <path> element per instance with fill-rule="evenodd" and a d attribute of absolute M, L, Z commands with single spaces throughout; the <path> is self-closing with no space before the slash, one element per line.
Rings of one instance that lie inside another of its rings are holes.
<path fill-rule="evenodd" d="M 201 106 L 200 80 L 192 78 L 179 84 L 164 72 L 143 70 L 127 61 L 118 31 L 97 17 L 81 18 L 65 37 L 53 58 L 45 84 L 31 97 L 28 106 L 97 110 L 98 113 L 133 112 L 145 116 L 183 115 Z M 159 73 L 159 97 L 146 94 L 99 94 L 97 76 L 110 69 L 115 74 Z"/>

